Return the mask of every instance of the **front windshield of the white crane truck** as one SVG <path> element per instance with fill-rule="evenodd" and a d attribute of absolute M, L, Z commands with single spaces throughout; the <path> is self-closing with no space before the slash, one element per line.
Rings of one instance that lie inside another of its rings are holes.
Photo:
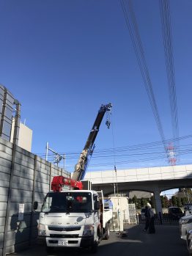
<path fill-rule="evenodd" d="M 48 193 L 42 211 L 44 213 L 87 213 L 92 211 L 92 195 L 89 192 Z"/>

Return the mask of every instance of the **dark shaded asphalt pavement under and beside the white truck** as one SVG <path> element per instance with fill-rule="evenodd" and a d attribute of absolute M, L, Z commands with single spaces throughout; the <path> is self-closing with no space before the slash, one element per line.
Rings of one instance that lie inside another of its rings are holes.
<path fill-rule="evenodd" d="M 180 238 L 179 227 L 156 225 L 156 233 L 148 234 L 142 230 L 144 225 L 125 224 L 122 235 L 110 233 L 109 240 L 100 242 L 98 256 L 188 256 L 186 242 Z M 47 253 L 43 246 L 35 245 L 23 252 L 15 252 L 11 256 L 72 256 L 93 255 L 85 249 L 55 249 Z"/>

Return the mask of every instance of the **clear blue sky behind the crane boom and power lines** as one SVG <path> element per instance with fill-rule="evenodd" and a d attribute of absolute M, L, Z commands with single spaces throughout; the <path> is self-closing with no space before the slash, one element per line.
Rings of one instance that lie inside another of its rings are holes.
<path fill-rule="evenodd" d="M 133 8 L 160 121 L 172 139 L 159 1 L 135 0 Z M 188 136 L 192 2 L 170 1 L 170 11 L 179 131 Z M 1 1 L 0 32 L 0 84 L 22 104 L 21 120 L 33 130 L 33 153 L 45 157 L 49 142 L 66 153 L 66 167 L 73 170 L 100 105 L 112 103 L 112 129 L 104 117 L 89 169 L 169 164 L 163 146 L 150 144 L 160 142 L 160 134 L 120 1 Z M 191 145 L 191 137 L 180 140 L 184 153 L 177 164 L 192 162 L 186 154 Z"/>

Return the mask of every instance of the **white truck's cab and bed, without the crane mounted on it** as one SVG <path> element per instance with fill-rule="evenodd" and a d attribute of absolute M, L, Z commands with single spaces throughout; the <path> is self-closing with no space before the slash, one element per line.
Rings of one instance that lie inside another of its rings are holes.
<path fill-rule="evenodd" d="M 38 224 L 38 241 L 47 249 L 83 247 L 93 252 L 102 238 L 109 238 L 112 210 L 104 209 L 97 191 L 50 191 L 45 197 Z"/>

